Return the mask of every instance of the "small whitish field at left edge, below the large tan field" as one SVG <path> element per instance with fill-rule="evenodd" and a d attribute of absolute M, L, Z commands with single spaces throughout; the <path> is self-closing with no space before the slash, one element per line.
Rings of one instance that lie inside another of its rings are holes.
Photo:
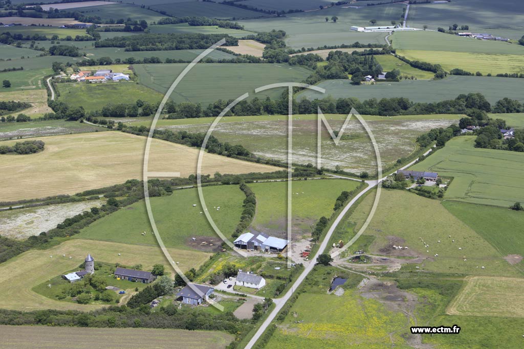
<path fill-rule="evenodd" d="M 56 228 L 57 224 L 67 217 L 89 211 L 91 207 L 100 207 L 102 204 L 102 200 L 89 200 L 0 211 L 0 235 L 10 239 L 27 239 L 31 235 Z"/>

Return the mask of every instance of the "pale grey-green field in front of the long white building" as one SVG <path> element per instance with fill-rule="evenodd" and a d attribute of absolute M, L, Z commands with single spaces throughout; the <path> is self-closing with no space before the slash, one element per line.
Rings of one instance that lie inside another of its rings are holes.
<path fill-rule="evenodd" d="M 319 11 L 319 13 L 324 11 Z M 342 22 L 326 23 L 324 20 L 325 16 L 310 19 L 303 17 L 304 15 L 305 13 L 300 13 L 290 14 L 288 17 L 241 20 L 239 23 L 244 26 L 245 30 L 267 31 L 267 28 L 285 30 L 287 34 L 286 44 L 294 49 L 302 47 L 316 49 L 318 47 L 322 48 L 324 45 L 351 44 L 356 41 L 360 43 L 386 43 L 384 41 L 386 33 L 384 32 L 354 32 L 349 30 L 349 26 L 353 24 Z"/>

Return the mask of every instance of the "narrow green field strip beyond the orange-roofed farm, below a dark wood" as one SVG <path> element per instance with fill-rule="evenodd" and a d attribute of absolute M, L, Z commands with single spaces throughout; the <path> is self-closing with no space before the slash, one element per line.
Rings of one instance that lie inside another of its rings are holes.
<path fill-rule="evenodd" d="M 85 52 L 88 58 L 100 58 L 100 57 L 111 57 L 111 59 L 126 59 L 134 57 L 135 59 L 144 59 L 150 57 L 158 57 L 162 61 L 166 58 L 181 59 L 184 61 L 192 61 L 204 50 L 170 50 L 170 51 L 124 51 L 123 48 L 116 47 L 100 47 L 100 48 L 89 48 Z M 208 56 L 211 59 L 231 59 L 234 56 L 230 53 L 223 51 L 213 51 Z"/>

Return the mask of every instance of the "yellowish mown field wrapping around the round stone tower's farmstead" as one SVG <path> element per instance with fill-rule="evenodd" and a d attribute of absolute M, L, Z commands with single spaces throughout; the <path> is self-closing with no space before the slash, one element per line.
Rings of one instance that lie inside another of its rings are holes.
<path fill-rule="evenodd" d="M 179 262 L 182 271 L 199 265 L 209 259 L 210 253 L 179 249 L 168 249 L 174 261 Z M 93 310 L 103 305 L 80 305 L 53 300 L 37 294 L 33 287 L 62 275 L 83 263 L 90 253 L 95 261 L 141 264 L 150 270 L 156 263 L 168 266 L 159 247 L 128 245 L 116 242 L 74 239 L 51 247 L 48 250 L 30 250 L 0 264 L 0 308 L 16 310 L 61 309 Z M 121 255 L 119 256 L 118 253 Z M 65 257 L 63 256 L 65 254 Z M 52 257 L 51 257 L 52 256 Z M 72 258 L 69 259 L 69 256 Z M 172 269 L 168 269 L 171 276 Z"/>

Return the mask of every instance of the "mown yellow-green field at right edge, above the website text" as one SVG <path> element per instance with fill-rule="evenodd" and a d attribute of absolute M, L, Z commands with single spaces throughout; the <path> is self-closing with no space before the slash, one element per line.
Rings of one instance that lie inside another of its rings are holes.
<path fill-rule="evenodd" d="M 446 313 L 462 316 L 524 317 L 524 279 L 467 277 Z"/>

